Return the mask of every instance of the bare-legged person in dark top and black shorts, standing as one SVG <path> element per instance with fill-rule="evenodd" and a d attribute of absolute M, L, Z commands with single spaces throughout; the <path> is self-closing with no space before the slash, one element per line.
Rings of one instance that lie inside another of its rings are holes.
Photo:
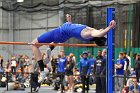
<path fill-rule="evenodd" d="M 67 65 L 66 65 L 66 75 L 68 76 L 67 77 L 67 80 L 68 80 L 68 93 L 72 93 L 73 92 L 73 85 L 74 85 L 74 82 L 73 82 L 73 71 L 74 71 L 74 67 L 75 67 L 75 63 L 74 61 L 72 60 L 72 56 L 68 56 L 67 57 Z"/>

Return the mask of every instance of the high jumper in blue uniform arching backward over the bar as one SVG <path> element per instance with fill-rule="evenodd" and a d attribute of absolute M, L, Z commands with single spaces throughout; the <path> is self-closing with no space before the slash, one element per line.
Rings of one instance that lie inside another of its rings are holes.
<path fill-rule="evenodd" d="M 95 28 L 88 27 L 87 25 L 82 24 L 73 24 L 71 22 L 71 15 L 66 15 L 67 21 L 62 26 L 57 27 L 51 31 L 45 32 L 42 35 L 39 35 L 36 39 L 33 40 L 33 44 L 36 43 L 63 43 L 68 39 L 74 37 L 82 41 L 91 41 L 94 40 L 98 45 L 105 45 L 106 35 L 110 29 L 113 29 L 116 26 L 116 22 L 112 20 L 109 26 L 105 29 L 97 30 Z M 44 64 L 41 57 L 41 51 L 39 49 L 40 45 L 32 45 L 32 51 L 35 55 L 35 58 L 40 67 L 40 82 L 44 80 L 46 73 L 44 72 Z M 52 50 L 53 48 L 51 48 Z"/>

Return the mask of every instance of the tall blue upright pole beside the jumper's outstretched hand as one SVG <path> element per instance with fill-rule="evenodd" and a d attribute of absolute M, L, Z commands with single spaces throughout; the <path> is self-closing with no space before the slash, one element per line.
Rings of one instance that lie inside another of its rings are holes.
<path fill-rule="evenodd" d="M 114 8 L 107 8 L 106 25 L 109 26 L 111 20 L 114 19 Z M 114 59 L 114 29 L 107 34 L 107 75 L 106 75 L 106 93 L 113 93 L 113 59 Z"/>

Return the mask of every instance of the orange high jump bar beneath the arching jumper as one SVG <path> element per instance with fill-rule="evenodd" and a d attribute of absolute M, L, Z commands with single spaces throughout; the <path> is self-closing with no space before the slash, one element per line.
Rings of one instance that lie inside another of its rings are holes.
<path fill-rule="evenodd" d="M 0 45 L 48 45 L 48 46 L 75 46 L 75 47 L 99 47 L 96 44 L 64 44 L 64 43 L 27 43 L 27 42 L 0 42 Z"/>

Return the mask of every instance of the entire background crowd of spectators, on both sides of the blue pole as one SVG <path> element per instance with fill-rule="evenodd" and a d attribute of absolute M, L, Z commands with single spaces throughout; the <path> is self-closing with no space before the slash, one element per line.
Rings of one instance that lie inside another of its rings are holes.
<path fill-rule="evenodd" d="M 46 57 L 47 55 L 43 53 L 42 59 Z M 105 49 L 98 50 L 96 57 L 91 55 L 90 51 L 83 51 L 78 62 L 76 62 L 73 53 L 65 55 L 65 51 L 61 50 L 57 57 L 51 55 L 50 62 L 45 65 L 45 68 L 53 75 L 52 85 L 59 78 L 61 85 L 59 88 L 62 90 L 59 91 L 60 93 L 72 93 L 76 88 L 76 84 L 79 83 L 82 84 L 79 87 L 82 93 L 88 93 L 90 84 L 96 84 L 96 93 L 106 93 L 106 59 Z M 126 52 L 120 52 L 118 59 L 114 61 L 115 93 L 140 92 L 140 54 L 135 54 L 133 59 L 135 62 L 134 68 L 131 68 L 131 58 Z M 31 59 L 27 55 L 11 56 L 7 62 L 0 56 L 0 86 L 6 72 L 11 72 L 8 73 L 9 82 L 25 83 L 27 80 L 30 82 L 30 73 L 39 71 L 34 56 Z"/>

